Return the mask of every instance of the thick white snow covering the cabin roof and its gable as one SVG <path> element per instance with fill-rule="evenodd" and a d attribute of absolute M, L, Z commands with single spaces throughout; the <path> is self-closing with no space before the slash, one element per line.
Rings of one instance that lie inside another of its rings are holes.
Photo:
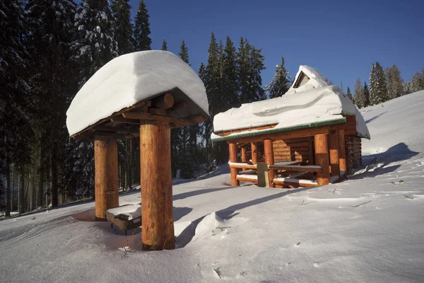
<path fill-rule="evenodd" d="M 213 119 L 214 132 L 223 132 L 236 129 L 247 129 L 245 132 L 232 133 L 225 137 L 240 137 L 247 132 L 264 132 L 264 130 L 251 130 L 252 127 L 276 125 L 274 131 L 293 129 L 295 127 L 316 127 L 322 123 L 336 123 L 343 120 L 343 115 L 355 115 L 358 136 L 370 139 L 365 120 L 352 100 L 341 91 L 338 86 L 329 86 L 328 81 L 311 67 L 300 66 L 300 72 L 305 71 L 309 81 L 298 88 L 290 87 L 284 96 L 269 100 L 242 104 L 240 108 L 232 108 L 219 113 Z M 296 82 L 295 79 L 295 82 Z M 295 83 L 293 83 L 294 85 Z M 303 91 L 299 91 L 300 88 Z M 212 134 L 212 139 L 220 139 Z"/>

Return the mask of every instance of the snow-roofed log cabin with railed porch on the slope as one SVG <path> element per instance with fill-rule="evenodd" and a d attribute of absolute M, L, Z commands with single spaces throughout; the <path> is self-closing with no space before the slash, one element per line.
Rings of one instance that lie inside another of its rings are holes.
<path fill-rule="evenodd" d="M 312 187 L 341 181 L 370 139 L 352 101 L 316 69 L 300 66 L 280 98 L 219 113 L 212 141 L 227 141 L 231 185 Z"/>

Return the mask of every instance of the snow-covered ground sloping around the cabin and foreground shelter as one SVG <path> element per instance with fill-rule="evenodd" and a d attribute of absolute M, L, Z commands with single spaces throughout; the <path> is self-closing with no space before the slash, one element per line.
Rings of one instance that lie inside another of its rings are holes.
<path fill-rule="evenodd" d="M 423 109 L 420 91 L 361 110 L 372 139 L 343 183 L 176 183 L 176 250 L 138 250 L 93 202 L 0 221 L 1 282 L 424 282 Z"/>

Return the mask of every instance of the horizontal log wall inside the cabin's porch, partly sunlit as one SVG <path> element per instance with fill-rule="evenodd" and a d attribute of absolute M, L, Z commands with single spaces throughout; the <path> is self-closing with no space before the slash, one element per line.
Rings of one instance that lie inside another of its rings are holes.
<path fill-rule="evenodd" d="M 273 141 L 274 161 L 302 161 L 313 164 L 312 137 Z"/>

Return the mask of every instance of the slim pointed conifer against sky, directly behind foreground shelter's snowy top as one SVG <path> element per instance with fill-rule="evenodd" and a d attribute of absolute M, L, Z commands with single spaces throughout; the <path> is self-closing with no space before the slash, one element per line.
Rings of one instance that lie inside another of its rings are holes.
<path fill-rule="evenodd" d="M 148 23 L 148 11 L 143 0 L 140 1 L 134 21 L 135 51 L 151 50 L 152 40 L 148 37 L 151 34 Z"/>

